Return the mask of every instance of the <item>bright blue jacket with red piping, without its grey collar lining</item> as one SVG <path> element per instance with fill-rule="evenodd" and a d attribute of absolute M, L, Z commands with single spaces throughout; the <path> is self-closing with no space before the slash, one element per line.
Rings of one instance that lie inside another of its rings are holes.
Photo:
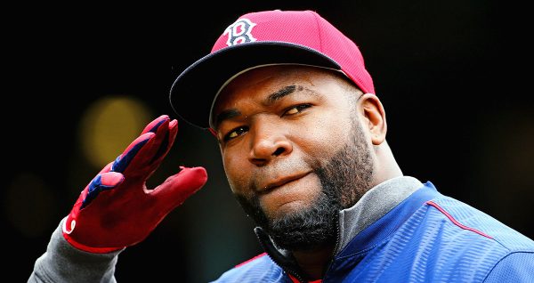
<path fill-rule="evenodd" d="M 256 233 L 266 254 L 215 282 L 303 278 Z M 534 241 L 426 182 L 344 245 L 322 282 L 534 282 Z"/>

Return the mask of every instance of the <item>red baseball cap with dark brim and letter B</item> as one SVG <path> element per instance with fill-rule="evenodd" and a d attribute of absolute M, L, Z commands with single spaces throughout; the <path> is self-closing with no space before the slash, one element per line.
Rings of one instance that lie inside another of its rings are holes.
<path fill-rule="evenodd" d="M 297 64 L 336 69 L 364 93 L 375 93 L 358 46 L 317 12 L 262 11 L 239 17 L 209 54 L 174 80 L 169 99 L 178 116 L 209 128 L 218 93 L 232 78 L 266 65 Z"/>

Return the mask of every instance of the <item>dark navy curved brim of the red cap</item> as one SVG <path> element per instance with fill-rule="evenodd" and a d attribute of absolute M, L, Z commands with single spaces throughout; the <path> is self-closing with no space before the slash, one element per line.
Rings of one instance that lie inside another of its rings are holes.
<path fill-rule="evenodd" d="M 245 69 L 270 64 L 340 69 L 336 61 L 303 45 L 266 41 L 237 44 L 210 53 L 185 69 L 171 87 L 171 106 L 191 125 L 206 129 L 212 102 L 221 87 Z"/>

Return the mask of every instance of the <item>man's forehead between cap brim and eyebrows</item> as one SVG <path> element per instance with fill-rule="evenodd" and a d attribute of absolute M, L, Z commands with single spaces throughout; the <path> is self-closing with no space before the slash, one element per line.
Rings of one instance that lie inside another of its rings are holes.
<path fill-rule="evenodd" d="M 322 85 L 332 84 L 349 83 L 342 73 L 332 69 L 300 65 L 275 65 L 251 69 L 224 86 L 214 101 L 212 114 L 232 107 L 239 101 L 262 98 L 262 95 L 277 92 L 290 85 L 316 89 Z"/>

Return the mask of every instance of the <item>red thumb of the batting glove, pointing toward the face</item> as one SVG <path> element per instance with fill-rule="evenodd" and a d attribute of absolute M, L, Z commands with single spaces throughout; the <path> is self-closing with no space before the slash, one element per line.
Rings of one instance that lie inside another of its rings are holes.
<path fill-rule="evenodd" d="M 180 167 L 182 170 L 160 184 L 150 194 L 157 198 L 158 206 L 172 209 L 200 190 L 207 181 L 204 167 Z"/>

